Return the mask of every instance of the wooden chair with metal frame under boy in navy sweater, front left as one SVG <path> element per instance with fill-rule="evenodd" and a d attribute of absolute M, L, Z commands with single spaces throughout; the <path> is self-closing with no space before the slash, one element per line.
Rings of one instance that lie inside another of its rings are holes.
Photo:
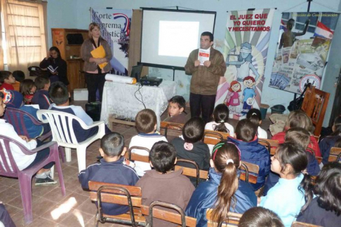
<path fill-rule="evenodd" d="M 89 189 L 91 190 L 90 199 L 98 202 L 97 226 L 98 222 L 104 223 L 106 221 L 131 226 L 145 226 L 145 217 L 140 211 L 142 205 L 140 187 L 89 181 Z M 103 214 L 102 202 L 128 205 L 129 212 L 119 215 Z"/>

